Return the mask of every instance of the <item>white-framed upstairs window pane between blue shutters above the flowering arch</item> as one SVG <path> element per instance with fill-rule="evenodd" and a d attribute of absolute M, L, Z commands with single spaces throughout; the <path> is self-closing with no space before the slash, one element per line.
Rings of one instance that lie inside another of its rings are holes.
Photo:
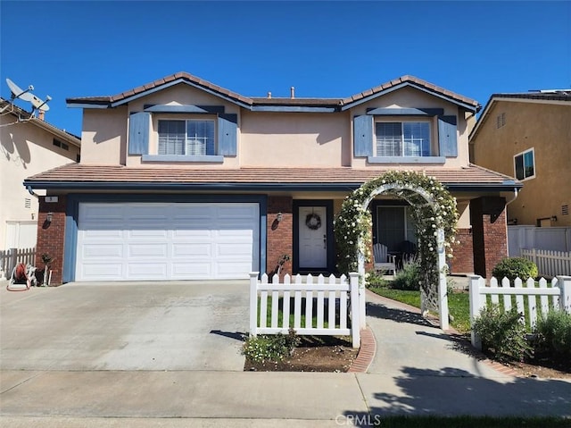
<path fill-rule="evenodd" d="M 377 156 L 430 156 L 429 122 L 377 122 Z"/>

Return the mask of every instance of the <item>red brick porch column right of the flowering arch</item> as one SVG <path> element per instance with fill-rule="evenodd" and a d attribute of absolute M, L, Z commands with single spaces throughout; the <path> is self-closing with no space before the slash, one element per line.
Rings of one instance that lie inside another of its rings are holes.
<path fill-rule="evenodd" d="M 474 273 L 492 278 L 492 269 L 508 256 L 505 197 L 478 197 L 470 201 L 474 239 Z"/>

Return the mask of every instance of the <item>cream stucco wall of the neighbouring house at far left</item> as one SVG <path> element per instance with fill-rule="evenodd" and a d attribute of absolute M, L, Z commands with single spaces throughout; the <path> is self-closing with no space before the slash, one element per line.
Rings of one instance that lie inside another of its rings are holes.
<path fill-rule="evenodd" d="M 0 248 L 6 243 L 6 222 L 37 222 L 37 198 L 22 185 L 23 180 L 62 164 L 76 162 L 79 147 L 38 128 L 31 122 L 15 121 L 12 114 L 0 116 Z M 7 125 L 7 126 L 4 126 Z M 69 150 L 54 146 L 54 138 Z M 37 191 L 37 194 L 45 192 Z M 29 199 L 29 207 L 26 200 Z"/>

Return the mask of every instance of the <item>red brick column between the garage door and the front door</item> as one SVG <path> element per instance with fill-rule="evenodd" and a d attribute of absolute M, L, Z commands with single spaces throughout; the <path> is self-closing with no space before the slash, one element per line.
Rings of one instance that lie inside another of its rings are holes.
<path fill-rule="evenodd" d="M 285 273 L 292 274 L 292 260 L 294 256 L 293 229 L 294 229 L 294 202 L 292 197 L 268 197 L 268 248 L 266 260 L 266 273 L 274 274 L 278 260 L 283 255 L 290 256 L 282 268 Z M 281 222 L 277 222 L 277 214 L 282 214 Z"/>

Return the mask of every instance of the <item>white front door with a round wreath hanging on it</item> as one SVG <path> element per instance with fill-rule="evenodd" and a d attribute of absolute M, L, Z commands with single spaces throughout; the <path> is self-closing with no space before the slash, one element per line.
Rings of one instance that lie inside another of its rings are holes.
<path fill-rule="evenodd" d="M 299 267 L 327 270 L 327 207 L 299 207 Z"/>

